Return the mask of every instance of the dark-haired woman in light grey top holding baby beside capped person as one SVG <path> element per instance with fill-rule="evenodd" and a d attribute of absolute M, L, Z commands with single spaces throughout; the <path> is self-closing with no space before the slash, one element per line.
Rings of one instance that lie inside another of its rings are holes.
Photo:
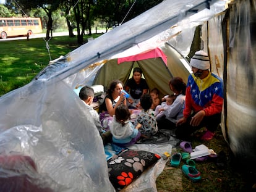
<path fill-rule="evenodd" d="M 177 119 L 183 117 L 186 83 L 181 77 L 174 77 L 169 81 L 169 88 L 173 91 L 176 99 L 166 111 L 163 111 L 164 115 L 156 119 L 159 129 L 174 129 L 176 128 Z"/>

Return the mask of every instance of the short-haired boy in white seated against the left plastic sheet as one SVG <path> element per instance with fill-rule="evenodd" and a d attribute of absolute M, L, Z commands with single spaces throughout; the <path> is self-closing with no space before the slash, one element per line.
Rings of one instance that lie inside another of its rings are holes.
<path fill-rule="evenodd" d="M 89 110 L 90 114 L 92 114 L 93 121 L 95 123 L 96 128 L 98 128 L 98 131 L 101 135 L 101 138 L 103 140 L 103 144 L 109 143 L 111 141 L 111 133 L 110 131 L 103 130 L 101 123 L 100 123 L 100 115 L 98 112 L 93 109 L 90 104 L 93 102 L 94 98 L 94 90 L 90 86 L 83 86 L 82 89 L 79 92 L 79 98 L 83 101 L 87 109 Z"/>

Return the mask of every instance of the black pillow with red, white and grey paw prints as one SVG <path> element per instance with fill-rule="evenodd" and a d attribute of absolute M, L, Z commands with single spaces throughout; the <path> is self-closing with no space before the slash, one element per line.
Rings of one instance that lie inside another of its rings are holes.
<path fill-rule="evenodd" d="M 160 158 L 152 152 L 127 149 L 108 160 L 109 180 L 116 190 L 121 190 Z"/>

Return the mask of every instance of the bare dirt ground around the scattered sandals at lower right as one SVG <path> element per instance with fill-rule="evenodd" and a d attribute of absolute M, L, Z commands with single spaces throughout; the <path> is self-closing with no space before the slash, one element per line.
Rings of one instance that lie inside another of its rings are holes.
<path fill-rule="evenodd" d="M 171 167 L 168 159 L 163 172 L 156 179 L 158 192 L 171 191 L 256 191 L 255 170 L 241 167 L 234 160 L 233 153 L 223 138 L 221 130 L 216 132 L 211 141 L 201 141 L 198 138 L 192 140 L 192 148 L 199 144 L 205 144 L 213 149 L 219 157 L 196 162 L 196 168 L 201 173 L 202 180 L 193 183 L 182 173 L 182 161 L 177 167 Z M 173 152 L 183 152 L 179 146 L 173 146 Z M 220 159 L 220 154 L 221 158 Z M 223 161 L 224 159 L 224 161 Z"/>

